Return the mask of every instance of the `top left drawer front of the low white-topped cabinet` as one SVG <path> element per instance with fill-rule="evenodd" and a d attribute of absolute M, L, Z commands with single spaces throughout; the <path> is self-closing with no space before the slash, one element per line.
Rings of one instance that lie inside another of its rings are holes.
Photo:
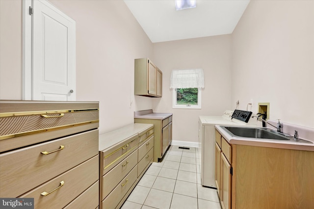
<path fill-rule="evenodd" d="M 138 137 L 119 147 L 102 152 L 102 176 L 138 148 Z"/>

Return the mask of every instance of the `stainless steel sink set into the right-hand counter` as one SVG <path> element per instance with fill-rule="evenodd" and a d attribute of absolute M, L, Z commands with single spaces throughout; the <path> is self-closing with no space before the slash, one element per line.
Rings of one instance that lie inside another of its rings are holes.
<path fill-rule="evenodd" d="M 311 143 L 310 141 L 304 139 L 295 140 L 293 137 L 288 137 L 274 132 L 272 129 L 268 128 L 255 128 L 255 127 L 228 127 L 221 126 L 222 129 L 227 131 L 233 137 L 242 138 L 253 138 L 253 139 L 268 139 L 268 140 L 280 140 L 280 141 L 291 141 L 291 142 L 302 142 Z"/>

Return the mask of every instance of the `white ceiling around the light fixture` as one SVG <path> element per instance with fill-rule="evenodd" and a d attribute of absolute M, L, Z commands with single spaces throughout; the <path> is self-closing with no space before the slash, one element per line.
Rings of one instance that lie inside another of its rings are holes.
<path fill-rule="evenodd" d="M 250 0 L 197 0 L 176 11 L 175 0 L 124 0 L 153 43 L 231 34 Z"/>

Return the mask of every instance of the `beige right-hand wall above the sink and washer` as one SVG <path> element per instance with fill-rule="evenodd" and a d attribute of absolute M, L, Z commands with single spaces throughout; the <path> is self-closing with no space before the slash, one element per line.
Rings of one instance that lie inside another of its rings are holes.
<path fill-rule="evenodd" d="M 232 34 L 232 104 L 314 128 L 314 1 L 253 0 Z"/>

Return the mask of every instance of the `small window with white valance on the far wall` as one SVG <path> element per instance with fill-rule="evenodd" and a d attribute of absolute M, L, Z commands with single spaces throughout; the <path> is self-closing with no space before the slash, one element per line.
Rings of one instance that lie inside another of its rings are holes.
<path fill-rule="evenodd" d="M 170 88 L 173 89 L 173 108 L 200 109 L 204 88 L 203 70 L 173 70 Z"/>

